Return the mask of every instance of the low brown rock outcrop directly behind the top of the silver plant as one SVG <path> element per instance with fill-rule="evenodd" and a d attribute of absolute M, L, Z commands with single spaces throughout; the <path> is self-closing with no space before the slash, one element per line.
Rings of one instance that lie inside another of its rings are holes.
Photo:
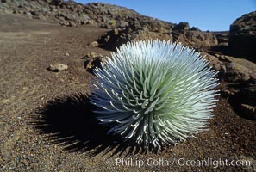
<path fill-rule="evenodd" d="M 115 51 L 116 47 L 128 41 L 147 39 L 173 40 L 194 48 L 218 44 L 215 34 L 205 33 L 195 28 L 190 29 L 187 22 L 180 22 L 177 25 L 163 24 L 157 20 L 129 22 L 126 28 L 110 30 L 98 41 L 102 47 Z"/>

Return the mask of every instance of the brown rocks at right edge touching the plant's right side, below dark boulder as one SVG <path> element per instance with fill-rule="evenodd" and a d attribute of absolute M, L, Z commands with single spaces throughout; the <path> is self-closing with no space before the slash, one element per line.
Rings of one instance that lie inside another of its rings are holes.
<path fill-rule="evenodd" d="M 221 95 L 228 97 L 240 116 L 256 120 L 256 64 L 243 58 L 205 55 L 215 71 L 219 71 Z"/>

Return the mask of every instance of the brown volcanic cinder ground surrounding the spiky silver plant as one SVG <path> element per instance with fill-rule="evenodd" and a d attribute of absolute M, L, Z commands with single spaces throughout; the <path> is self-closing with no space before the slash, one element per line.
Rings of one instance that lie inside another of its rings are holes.
<path fill-rule="evenodd" d="M 158 152 L 116 144 L 115 138 L 104 135 L 104 128 L 92 120 L 86 103 L 95 77 L 84 69 L 84 56 L 91 51 L 109 55 L 88 46 L 106 29 L 64 28 L 57 22 L 21 15 L 0 15 L 0 23 L 0 171 L 255 168 L 255 160 L 249 158 L 255 157 L 255 122 L 240 118 L 221 97 L 209 131 L 184 143 Z M 54 63 L 67 64 L 68 70 L 48 71 Z M 228 162 L 246 159 L 252 164 L 216 167 L 190 163 L 210 158 Z M 143 163 L 140 168 L 139 162 Z"/>

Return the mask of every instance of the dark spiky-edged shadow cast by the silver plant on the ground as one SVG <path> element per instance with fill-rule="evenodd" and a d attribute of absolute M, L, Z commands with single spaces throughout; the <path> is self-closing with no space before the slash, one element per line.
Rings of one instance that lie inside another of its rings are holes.
<path fill-rule="evenodd" d="M 93 113 L 96 107 L 89 100 L 88 95 L 77 94 L 48 101 L 31 114 L 29 123 L 49 144 L 58 144 L 65 151 L 88 152 L 88 157 L 109 151 L 110 157 L 159 151 L 123 142 L 122 138 L 108 134 L 109 127 L 99 124 Z"/>

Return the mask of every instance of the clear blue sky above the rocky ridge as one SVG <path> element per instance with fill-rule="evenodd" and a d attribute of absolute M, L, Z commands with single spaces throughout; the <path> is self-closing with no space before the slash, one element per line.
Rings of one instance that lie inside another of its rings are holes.
<path fill-rule="evenodd" d="M 166 22 L 189 22 L 203 31 L 226 31 L 241 15 L 256 10 L 256 0 L 74 0 L 110 3 Z"/>

